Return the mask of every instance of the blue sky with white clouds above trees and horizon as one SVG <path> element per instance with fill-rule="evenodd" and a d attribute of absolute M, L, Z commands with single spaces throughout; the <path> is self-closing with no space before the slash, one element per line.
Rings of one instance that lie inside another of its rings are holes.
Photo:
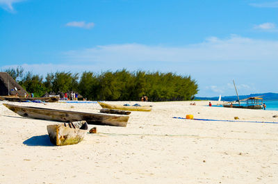
<path fill-rule="evenodd" d="M 278 92 L 278 1 L 0 0 L 0 70 L 172 72 L 197 97 Z"/>

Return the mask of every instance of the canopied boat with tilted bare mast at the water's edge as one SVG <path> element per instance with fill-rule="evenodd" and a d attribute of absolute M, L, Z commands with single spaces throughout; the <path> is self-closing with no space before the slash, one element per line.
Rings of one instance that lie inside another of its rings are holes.
<path fill-rule="evenodd" d="M 234 82 L 234 80 L 233 80 Z M 236 84 L 234 82 L 234 87 L 236 89 Z M 238 96 L 238 90 L 236 90 L 236 95 Z M 260 97 L 249 97 L 247 99 L 239 99 L 237 101 L 228 101 L 223 103 L 224 108 L 248 108 L 248 109 L 262 109 L 263 108 L 263 98 Z"/>

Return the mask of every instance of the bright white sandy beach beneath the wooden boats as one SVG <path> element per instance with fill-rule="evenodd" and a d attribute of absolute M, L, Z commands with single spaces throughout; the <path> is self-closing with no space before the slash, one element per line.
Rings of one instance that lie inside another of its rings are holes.
<path fill-rule="evenodd" d="M 20 117 L 2 103 L 0 183 L 278 183 L 278 124 L 172 118 L 278 122 L 272 117 L 277 111 L 208 107 L 208 101 L 138 102 L 152 104 L 152 112 L 131 112 L 126 127 L 97 126 L 98 133 L 79 144 L 55 147 L 47 135 L 54 122 Z M 15 104 L 101 109 L 92 103 Z"/>

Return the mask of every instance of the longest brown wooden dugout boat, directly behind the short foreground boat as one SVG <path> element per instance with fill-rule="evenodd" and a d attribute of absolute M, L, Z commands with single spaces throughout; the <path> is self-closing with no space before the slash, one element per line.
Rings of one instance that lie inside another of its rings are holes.
<path fill-rule="evenodd" d="M 22 117 L 46 119 L 58 122 L 76 122 L 85 120 L 88 124 L 126 126 L 127 121 L 129 120 L 129 116 L 126 115 L 106 115 L 101 113 L 15 106 L 8 103 L 3 103 L 3 105 Z"/>

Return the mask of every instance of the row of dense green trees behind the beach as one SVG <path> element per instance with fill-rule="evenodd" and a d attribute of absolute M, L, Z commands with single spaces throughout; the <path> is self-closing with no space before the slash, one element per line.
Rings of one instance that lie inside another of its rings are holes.
<path fill-rule="evenodd" d="M 44 78 L 32 72 L 24 72 L 22 67 L 6 69 L 24 89 L 41 97 L 45 92 L 78 92 L 88 100 L 138 101 L 147 96 L 149 101 L 192 100 L 198 86 L 190 76 L 161 72 L 116 72 L 48 73 Z"/>

